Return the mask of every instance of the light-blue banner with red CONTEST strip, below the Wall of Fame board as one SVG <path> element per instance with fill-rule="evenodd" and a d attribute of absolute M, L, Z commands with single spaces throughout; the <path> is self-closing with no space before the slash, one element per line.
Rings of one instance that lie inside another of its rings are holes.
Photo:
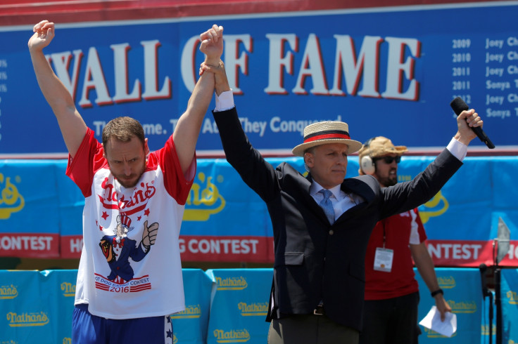
<path fill-rule="evenodd" d="M 400 183 L 433 159 L 403 156 Z M 305 173 L 298 157 L 267 161 L 288 161 Z M 60 159 L 0 161 L 0 256 L 80 257 L 84 197 L 65 168 Z M 516 157 L 467 157 L 441 192 L 419 207 L 436 265 L 493 265 L 493 239 L 503 222 L 510 248 L 500 265 L 518 266 L 516 171 Z M 349 157 L 347 177 L 357 175 L 358 157 Z M 180 232 L 182 260 L 273 262 L 272 237 L 264 202 L 234 168 L 225 159 L 199 159 Z"/>

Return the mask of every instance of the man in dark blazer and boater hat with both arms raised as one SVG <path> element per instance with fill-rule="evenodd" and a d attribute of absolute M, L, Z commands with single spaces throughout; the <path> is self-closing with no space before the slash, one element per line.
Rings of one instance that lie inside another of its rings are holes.
<path fill-rule="evenodd" d="M 414 180 L 381 188 L 376 178 L 345 179 L 347 157 L 362 144 L 346 123 L 326 121 L 304 129 L 293 148 L 304 177 L 286 162 L 267 163 L 241 127 L 222 62 L 202 65 L 215 74 L 213 112 L 227 161 L 265 201 L 274 233 L 274 275 L 268 343 L 358 343 L 362 329 L 365 252 L 372 228 L 388 216 L 433 197 L 462 165 L 467 145 L 482 126 L 474 110 L 457 117 L 448 149 Z"/>

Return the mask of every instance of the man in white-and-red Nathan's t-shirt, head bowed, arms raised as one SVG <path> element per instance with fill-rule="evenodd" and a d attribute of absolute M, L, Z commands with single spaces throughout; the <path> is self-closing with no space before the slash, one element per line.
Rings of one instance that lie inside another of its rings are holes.
<path fill-rule="evenodd" d="M 163 148 L 149 152 L 141 124 L 112 119 L 102 144 L 43 53 L 54 23 L 34 25 L 28 42 L 39 87 L 69 152 L 67 175 L 84 195 L 73 343 L 172 343 L 169 315 L 184 310 L 179 230 L 196 173 L 196 141 L 215 87 L 198 80 Z M 205 63 L 218 65 L 223 28 L 200 35 Z"/>

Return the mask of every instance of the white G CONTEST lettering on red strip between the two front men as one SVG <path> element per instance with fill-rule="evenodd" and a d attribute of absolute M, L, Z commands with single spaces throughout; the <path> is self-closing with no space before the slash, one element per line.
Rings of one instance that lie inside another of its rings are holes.
<path fill-rule="evenodd" d="M 179 239 L 180 253 L 210 254 L 255 254 L 259 241 L 256 239 Z"/>

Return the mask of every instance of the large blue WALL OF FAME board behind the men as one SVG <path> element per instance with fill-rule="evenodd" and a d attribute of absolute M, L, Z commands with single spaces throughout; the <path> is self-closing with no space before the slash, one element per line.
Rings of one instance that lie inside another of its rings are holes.
<path fill-rule="evenodd" d="M 222 59 L 241 122 L 260 150 L 290 152 L 305 125 L 324 119 L 346 121 L 362 142 L 384 135 L 409 147 L 443 147 L 455 131 L 449 103 L 457 96 L 481 114 L 497 148 L 516 147 L 517 6 L 58 22 L 44 53 L 97 138 L 110 119 L 128 115 L 144 125 L 151 150 L 162 147 L 187 107 L 203 60 L 198 35 L 214 23 L 225 27 Z M 34 77 L 31 35 L 32 25 L 0 26 L 6 157 L 66 152 Z M 221 152 L 219 142 L 208 114 L 198 150 Z M 474 145 L 485 148 L 479 140 Z"/>

